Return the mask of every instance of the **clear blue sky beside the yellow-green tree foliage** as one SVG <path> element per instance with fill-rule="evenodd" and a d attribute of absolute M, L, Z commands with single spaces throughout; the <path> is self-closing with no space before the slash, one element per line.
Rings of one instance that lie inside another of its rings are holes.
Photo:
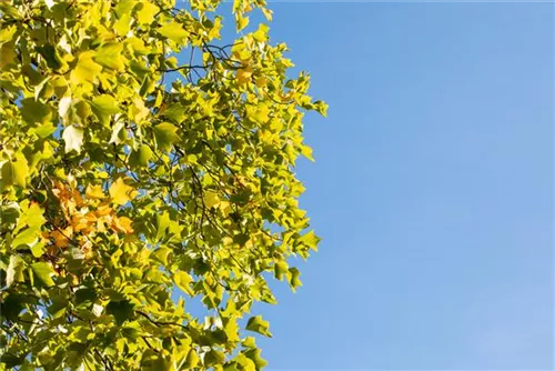
<path fill-rule="evenodd" d="M 299 167 L 321 251 L 258 307 L 270 369 L 552 369 L 553 3 L 271 8 L 330 114 Z"/>

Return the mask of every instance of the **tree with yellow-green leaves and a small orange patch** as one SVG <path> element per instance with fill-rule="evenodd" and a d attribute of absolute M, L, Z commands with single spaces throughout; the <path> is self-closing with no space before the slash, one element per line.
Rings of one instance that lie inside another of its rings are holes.
<path fill-rule="evenodd" d="M 249 313 L 316 249 L 294 166 L 326 106 L 268 26 L 219 44 L 221 1 L 174 2 L 0 2 L 0 369 L 265 365 Z"/>

